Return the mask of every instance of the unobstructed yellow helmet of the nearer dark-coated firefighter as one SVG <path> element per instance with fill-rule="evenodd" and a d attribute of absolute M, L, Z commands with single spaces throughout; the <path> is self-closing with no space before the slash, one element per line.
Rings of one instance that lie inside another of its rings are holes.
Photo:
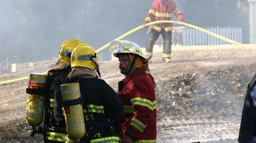
<path fill-rule="evenodd" d="M 99 55 L 91 46 L 80 44 L 71 53 L 71 68 L 86 67 L 92 70 L 98 69 L 98 58 Z"/>

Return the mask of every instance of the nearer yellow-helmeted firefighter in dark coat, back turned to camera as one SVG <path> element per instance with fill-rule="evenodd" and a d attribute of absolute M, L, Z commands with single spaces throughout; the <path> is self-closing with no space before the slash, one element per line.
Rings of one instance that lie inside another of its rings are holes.
<path fill-rule="evenodd" d="M 97 78 L 99 56 L 95 50 L 80 44 L 71 54 L 71 72 L 66 83 L 79 83 L 84 98 L 83 113 L 86 133 L 80 143 L 119 143 L 119 134 L 113 120 L 123 117 L 123 104 L 116 92 L 102 79 Z M 96 71 L 95 71 L 96 69 Z M 55 96 L 55 118 L 65 124 L 62 116 L 62 95 Z M 75 142 L 72 138 L 67 143 Z"/>

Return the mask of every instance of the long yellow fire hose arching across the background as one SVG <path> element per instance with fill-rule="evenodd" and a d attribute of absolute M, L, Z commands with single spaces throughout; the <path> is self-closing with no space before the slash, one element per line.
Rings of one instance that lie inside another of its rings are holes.
<path fill-rule="evenodd" d="M 218 34 L 215 34 L 215 33 L 213 33 L 213 32 L 210 32 L 210 31 L 208 31 L 208 30 L 205 30 L 205 29 L 203 29 L 203 28 L 199 28 L 199 27 L 197 27 L 197 26 L 195 26 L 195 25 L 191 25 L 191 24 L 188 24 L 188 23 L 180 22 L 180 21 L 154 21 L 154 22 L 150 22 L 150 23 L 145 24 L 145 26 L 149 26 L 149 25 L 157 24 L 157 23 L 175 23 L 175 24 L 185 25 L 185 26 L 188 26 L 188 27 L 197 29 L 197 30 L 199 30 L 199 31 L 205 32 L 205 33 L 207 33 L 207 34 L 209 34 L 209 35 L 212 35 L 212 36 L 214 36 L 214 37 L 217 37 L 217 38 L 219 38 L 219 39 L 222 39 L 222 40 L 224 40 L 224 41 L 226 41 L 226 42 L 230 42 L 230 43 L 232 43 L 232 44 L 237 44 L 237 45 L 242 46 L 242 47 L 244 47 L 244 48 L 251 48 L 251 49 L 255 49 L 255 50 L 256 50 L 256 47 L 244 45 L 244 44 L 242 44 L 242 43 L 236 42 L 236 41 L 234 41 L 234 40 L 225 38 L 225 37 L 223 37 L 223 36 L 220 36 L 220 35 L 218 35 Z M 116 38 L 116 39 L 114 39 L 114 40 L 123 39 L 124 37 L 126 37 L 126 36 L 132 34 L 133 32 L 135 32 L 135 31 L 137 31 L 137 30 L 142 29 L 143 27 L 144 27 L 143 25 L 140 25 L 140 26 L 138 26 L 137 28 L 134 28 L 133 30 L 130 30 L 130 31 L 126 32 L 125 34 L 121 35 L 120 37 L 118 37 L 118 38 Z M 98 52 L 104 50 L 105 48 L 107 48 L 107 47 L 109 46 L 110 43 L 111 43 L 111 42 L 109 42 L 108 44 L 106 44 L 106 45 L 102 46 L 101 48 L 97 49 L 96 52 L 98 53 Z M 44 74 L 46 74 L 46 73 L 47 73 L 47 72 L 44 72 Z M 27 77 L 23 77 L 23 78 L 18 78 L 18 79 L 9 80 L 9 81 L 1 81 L 1 82 L 0 82 L 0 85 L 1 85 L 1 84 L 5 84 L 5 83 L 14 83 L 14 82 L 17 82 L 17 81 L 23 81 L 23 80 L 26 80 L 26 79 L 28 79 L 28 76 L 27 76 Z"/>

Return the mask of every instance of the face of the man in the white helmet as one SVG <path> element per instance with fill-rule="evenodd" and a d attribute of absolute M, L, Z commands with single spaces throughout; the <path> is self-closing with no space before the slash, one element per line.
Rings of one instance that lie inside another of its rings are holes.
<path fill-rule="evenodd" d="M 130 59 L 128 55 L 119 55 L 119 69 L 121 74 L 127 74 L 130 69 Z"/>

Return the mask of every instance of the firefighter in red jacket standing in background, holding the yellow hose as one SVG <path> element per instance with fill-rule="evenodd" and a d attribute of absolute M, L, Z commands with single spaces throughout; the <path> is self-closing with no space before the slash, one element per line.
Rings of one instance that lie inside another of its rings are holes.
<path fill-rule="evenodd" d="M 173 2 L 172 0 L 155 0 L 142 25 L 145 25 L 153 20 L 171 20 L 172 14 L 178 17 L 178 21 L 184 20 L 184 16 L 176 7 L 175 2 Z M 146 28 L 146 26 L 144 28 Z M 159 35 L 161 34 L 164 39 L 162 60 L 163 62 L 167 63 L 171 62 L 171 38 L 173 23 L 159 23 L 151 25 L 150 28 L 151 31 L 146 43 L 145 56 L 152 57 L 153 46 L 156 40 L 158 39 Z"/>

